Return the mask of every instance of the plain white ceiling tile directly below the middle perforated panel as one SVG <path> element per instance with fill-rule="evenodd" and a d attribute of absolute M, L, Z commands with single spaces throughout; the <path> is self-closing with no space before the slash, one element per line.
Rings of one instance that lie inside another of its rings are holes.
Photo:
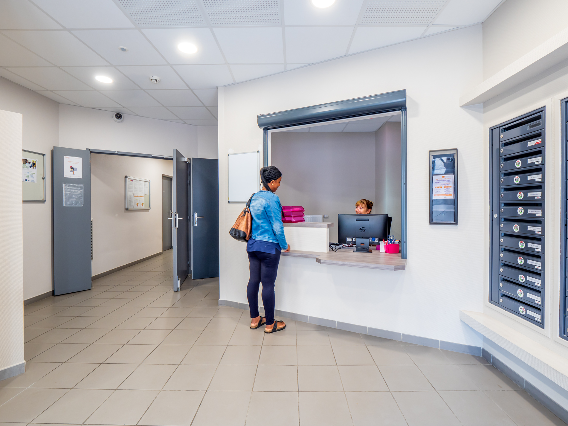
<path fill-rule="evenodd" d="M 282 28 L 215 28 L 229 64 L 284 62 Z"/>

